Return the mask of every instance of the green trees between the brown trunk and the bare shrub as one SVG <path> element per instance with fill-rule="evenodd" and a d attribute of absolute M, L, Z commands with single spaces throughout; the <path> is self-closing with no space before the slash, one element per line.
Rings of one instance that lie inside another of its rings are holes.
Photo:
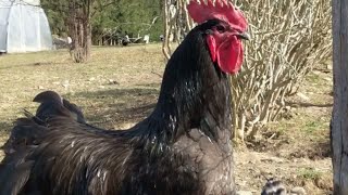
<path fill-rule="evenodd" d="M 160 3 L 159 3 L 160 2 Z M 91 21 L 94 43 L 101 43 L 101 38 L 124 36 L 142 37 L 150 35 L 159 40 L 162 34 L 161 0 L 119 0 L 117 4 L 98 12 Z"/>

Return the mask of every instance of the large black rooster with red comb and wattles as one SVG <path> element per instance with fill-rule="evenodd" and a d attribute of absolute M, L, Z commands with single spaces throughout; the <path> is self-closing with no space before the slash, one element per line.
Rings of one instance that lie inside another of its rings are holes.
<path fill-rule="evenodd" d="M 227 74 L 241 66 L 247 22 L 224 0 L 191 1 L 188 11 L 199 25 L 169 61 L 148 118 L 96 130 L 41 103 L 44 125 L 20 119 L 14 129 L 45 133 L 7 154 L 0 194 L 234 194 Z"/>

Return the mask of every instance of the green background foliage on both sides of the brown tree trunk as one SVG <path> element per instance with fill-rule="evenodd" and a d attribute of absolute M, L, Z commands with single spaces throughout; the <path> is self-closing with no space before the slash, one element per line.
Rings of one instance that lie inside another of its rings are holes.
<path fill-rule="evenodd" d="M 150 39 L 157 41 L 162 34 L 161 0 L 96 0 L 92 5 L 92 40 L 96 42 L 105 29 L 128 32 L 129 37 L 140 37 L 150 34 Z M 41 0 L 47 13 L 51 31 L 60 37 L 67 36 L 65 25 L 69 12 L 69 0 Z M 149 24 L 157 18 L 153 25 Z"/>

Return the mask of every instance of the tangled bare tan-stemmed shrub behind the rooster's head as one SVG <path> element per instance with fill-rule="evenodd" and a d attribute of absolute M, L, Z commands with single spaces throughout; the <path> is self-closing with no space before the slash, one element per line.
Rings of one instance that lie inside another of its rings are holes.
<path fill-rule="evenodd" d="M 191 28 L 185 0 L 165 0 L 163 51 L 170 37 Z M 312 68 L 332 55 L 331 1 L 233 0 L 249 23 L 243 70 L 231 77 L 235 139 L 253 138 L 260 127 L 278 118 L 285 99 L 295 94 Z M 182 12 L 170 15 L 170 6 Z M 177 25 L 181 24 L 181 25 Z M 165 52 L 164 52 L 165 53 Z"/>

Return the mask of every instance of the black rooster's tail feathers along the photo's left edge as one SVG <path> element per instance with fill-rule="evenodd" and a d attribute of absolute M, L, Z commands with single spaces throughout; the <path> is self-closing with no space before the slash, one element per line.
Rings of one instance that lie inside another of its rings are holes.
<path fill-rule="evenodd" d="M 15 121 L 9 140 L 2 146 L 5 157 L 0 162 L 0 195 L 23 192 L 34 165 L 28 158 L 49 132 L 49 121 L 52 117 L 64 117 L 85 123 L 80 108 L 54 91 L 39 93 L 34 102 L 40 103 L 36 115 L 24 110 L 26 117 Z"/>

